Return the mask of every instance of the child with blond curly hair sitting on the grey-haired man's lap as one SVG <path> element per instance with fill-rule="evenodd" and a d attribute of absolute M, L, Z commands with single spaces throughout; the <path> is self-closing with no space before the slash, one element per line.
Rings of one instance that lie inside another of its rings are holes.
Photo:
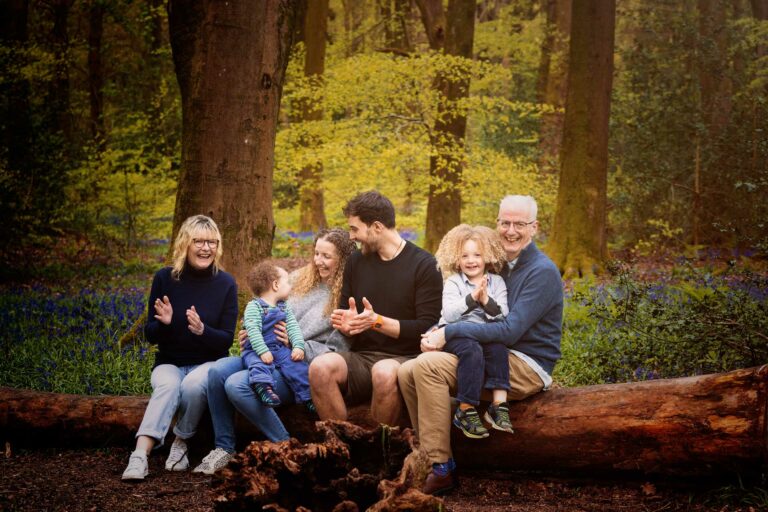
<path fill-rule="evenodd" d="M 495 322 L 509 313 L 507 287 L 498 275 L 506 262 L 506 253 L 494 230 L 460 224 L 443 237 L 435 258 L 445 280 L 439 325 Z M 488 429 L 475 408 L 485 388 L 493 393 L 485 420 L 497 430 L 512 433 L 507 405 L 509 349 L 506 345 L 455 338 L 445 344 L 444 350 L 459 358 L 456 393 L 459 406 L 453 424 L 467 437 L 488 437 Z"/>

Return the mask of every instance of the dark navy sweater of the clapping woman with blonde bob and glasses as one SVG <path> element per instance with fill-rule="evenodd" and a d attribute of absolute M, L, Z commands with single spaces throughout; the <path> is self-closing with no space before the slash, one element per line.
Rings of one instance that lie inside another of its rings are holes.
<path fill-rule="evenodd" d="M 155 318 L 155 299 L 163 300 L 163 295 L 173 307 L 170 325 Z M 187 323 L 186 311 L 192 306 L 205 325 L 200 336 L 192 334 Z M 226 356 L 236 322 L 237 284 L 230 274 L 220 270 L 214 275 L 212 266 L 206 270 L 187 266 L 178 281 L 171 277 L 171 267 L 155 274 L 144 326 L 147 341 L 158 347 L 155 366 L 202 364 Z"/>

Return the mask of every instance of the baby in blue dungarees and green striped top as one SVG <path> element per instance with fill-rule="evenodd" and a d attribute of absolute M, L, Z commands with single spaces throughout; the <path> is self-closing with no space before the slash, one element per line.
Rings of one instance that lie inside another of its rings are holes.
<path fill-rule="evenodd" d="M 285 301 L 291 292 L 288 272 L 270 261 L 262 261 L 248 273 L 254 298 L 245 307 L 243 325 L 249 342 L 243 350 L 248 383 L 265 405 L 280 405 L 275 393 L 272 367 L 285 377 L 297 403 L 315 412 L 309 391 L 309 366 L 304 361 L 304 337 L 291 307 Z M 275 336 L 275 324 L 285 322 L 291 348 Z"/>

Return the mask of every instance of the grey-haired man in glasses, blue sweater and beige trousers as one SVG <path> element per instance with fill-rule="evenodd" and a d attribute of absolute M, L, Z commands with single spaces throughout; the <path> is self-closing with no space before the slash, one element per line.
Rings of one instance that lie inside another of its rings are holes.
<path fill-rule="evenodd" d="M 507 196 L 496 227 L 507 253 L 504 280 L 509 314 L 501 322 L 449 324 L 423 336 L 421 354 L 398 371 L 400 391 L 419 442 L 432 462 L 424 492 L 444 494 L 458 485 L 451 453 L 451 395 L 456 391 L 458 358 L 442 352 L 445 340 L 470 338 L 509 347 L 508 400 L 522 400 L 552 383 L 560 358 L 563 285 L 555 264 L 533 242 L 538 230 L 536 201 Z M 501 404 L 508 410 L 506 403 Z"/>

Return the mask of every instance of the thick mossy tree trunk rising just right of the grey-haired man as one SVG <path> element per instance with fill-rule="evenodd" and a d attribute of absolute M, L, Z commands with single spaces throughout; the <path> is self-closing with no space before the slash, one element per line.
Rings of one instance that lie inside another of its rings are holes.
<path fill-rule="evenodd" d="M 566 278 L 594 274 L 606 256 L 615 18 L 615 0 L 573 3 L 560 185 L 548 246 Z"/>

